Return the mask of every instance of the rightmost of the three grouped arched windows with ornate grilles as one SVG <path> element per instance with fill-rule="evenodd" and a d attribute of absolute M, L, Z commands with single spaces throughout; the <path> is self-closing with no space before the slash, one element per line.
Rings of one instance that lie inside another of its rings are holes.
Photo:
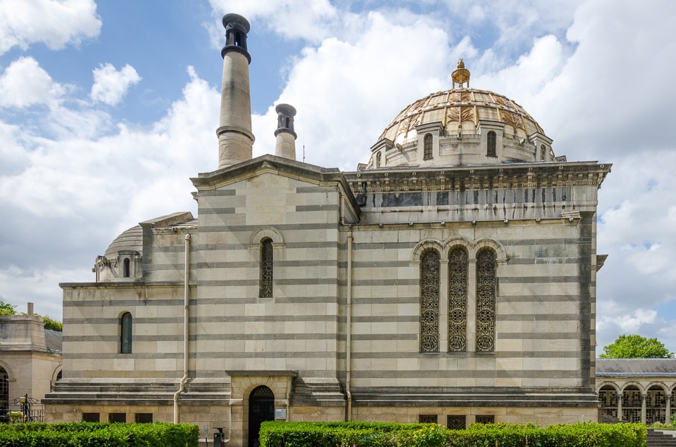
<path fill-rule="evenodd" d="M 496 265 L 492 250 L 477 254 L 477 352 L 495 351 Z"/>

